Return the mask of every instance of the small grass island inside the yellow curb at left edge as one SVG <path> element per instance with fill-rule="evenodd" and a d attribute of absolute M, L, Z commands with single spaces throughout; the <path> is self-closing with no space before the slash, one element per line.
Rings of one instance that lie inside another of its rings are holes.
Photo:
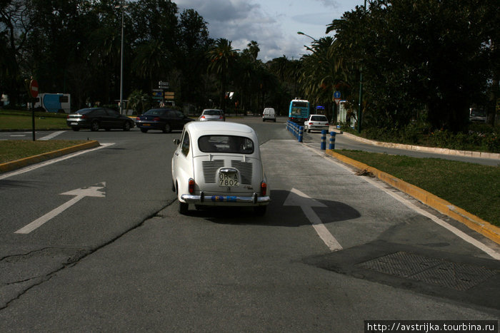
<path fill-rule="evenodd" d="M 0 141 L 0 164 L 86 143 L 86 140 Z"/>

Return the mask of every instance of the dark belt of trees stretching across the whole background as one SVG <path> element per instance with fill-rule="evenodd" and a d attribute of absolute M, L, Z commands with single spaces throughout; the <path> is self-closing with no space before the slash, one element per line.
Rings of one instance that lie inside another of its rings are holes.
<path fill-rule="evenodd" d="M 212 39 L 209 22 L 195 9 L 124 1 L 124 98 L 141 113 L 158 105 L 152 89 L 168 81 L 176 107 L 191 114 L 273 107 L 285 116 L 289 101 L 301 97 L 336 123 L 339 91 L 348 111 L 340 121 L 354 121 L 367 138 L 496 152 L 500 16 L 491 9 L 497 3 L 367 1 L 366 8 L 332 17 L 325 36 L 310 36 L 301 58 L 262 61 L 259 41 L 237 49 L 228 39 Z M 26 108 L 30 78 L 41 93 L 71 93 L 73 111 L 116 108 L 122 9 L 117 0 L 1 1 L 0 93 L 9 108 Z M 491 128 L 469 127 L 472 106 L 486 112 Z"/>

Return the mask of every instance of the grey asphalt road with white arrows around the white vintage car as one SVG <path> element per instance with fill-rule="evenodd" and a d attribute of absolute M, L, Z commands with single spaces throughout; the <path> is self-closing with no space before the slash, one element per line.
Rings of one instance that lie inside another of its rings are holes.
<path fill-rule="evenodd" d="M 0 175 L 0 331 L 361 332 L 366 319 L 500 317 L 499 245 L 326 157 L 319 134 L 300 145 L 282 122 L 234 121 L 259 133 L 264 217 L 179 215 L 180 132 L 65 131 L 56 138 L 102 146 Z"/>

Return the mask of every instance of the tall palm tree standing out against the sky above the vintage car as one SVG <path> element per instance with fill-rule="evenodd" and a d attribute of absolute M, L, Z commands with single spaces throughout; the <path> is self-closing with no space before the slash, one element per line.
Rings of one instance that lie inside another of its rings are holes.
<path fill-rule="evenodd" d="M 210 61 L 208 70 L 218 76 L 221 83 L 220 105 L 223 110 L 226 109 L 224 94 L 226 93 L 227 78 L 234 61 L 236 61 L 236 56 L 238 56 L 237 51 L 239 50 L 232 48 L 231 41 L 217 39 L 215 46 L 207 54 Z"/>

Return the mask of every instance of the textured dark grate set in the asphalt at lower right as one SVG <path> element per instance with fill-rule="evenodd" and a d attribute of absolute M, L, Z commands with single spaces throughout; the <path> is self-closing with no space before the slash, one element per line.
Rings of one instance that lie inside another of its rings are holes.
<path fill-rule="evenodd" d="M 459 291 L 469 290 L 498 273 L 485 267 L 448 262 L 408 252 L 392 253 L 356 266 Z"/>

